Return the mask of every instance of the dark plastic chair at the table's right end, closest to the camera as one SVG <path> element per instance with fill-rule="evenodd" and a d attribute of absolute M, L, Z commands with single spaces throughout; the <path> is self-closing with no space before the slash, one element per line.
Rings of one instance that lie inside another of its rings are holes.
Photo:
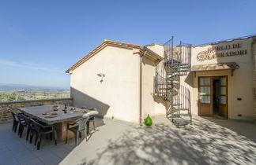
<path fill-rule="evenodd" d="M 76 146 L 78 145 L 78 134 L 79 134 L 79 138 L 81 138 L 81 132 L 84 130 L 85 130 L 85 141 L 87 141 L 87 131 L 86 131 L 88 130 L 88 127 L 86 128 L 87 123 L 88 123 L 88 117 L 77 119 L 77 121 L 74 123 L 67 123 L 66 124 L 66 143 L 68 141 L 69 130 L 72 131 L 73 134 L 75 135 Z M 70 127 L 70 126 L 74 126 L 74 127 Z"/>

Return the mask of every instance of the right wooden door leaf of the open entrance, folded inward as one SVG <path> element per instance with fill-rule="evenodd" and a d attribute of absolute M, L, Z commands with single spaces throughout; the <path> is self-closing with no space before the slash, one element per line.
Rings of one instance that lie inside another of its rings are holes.
<path fill-rule="evenodd" d="M 228 119 L 228 76 L 220 77 L 220 116 Z"/>

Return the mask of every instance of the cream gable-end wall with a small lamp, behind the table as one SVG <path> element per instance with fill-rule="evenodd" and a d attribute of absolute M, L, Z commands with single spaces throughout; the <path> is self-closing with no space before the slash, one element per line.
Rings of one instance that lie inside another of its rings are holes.
<path fill-rule="evenodd" d="M 139 119 L 139 56 L 136 49 L 107 46 L 70 75 L 74 105 L 98 108 L 101 116 Z M 100 83 L 97 75 L 105 77 Z"/>

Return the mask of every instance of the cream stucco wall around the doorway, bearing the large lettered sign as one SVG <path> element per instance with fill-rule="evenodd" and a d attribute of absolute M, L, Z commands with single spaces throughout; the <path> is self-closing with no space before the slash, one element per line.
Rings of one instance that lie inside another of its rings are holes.
<path fill-rule="evenodd" d="M 239 39 L 232 42 L 221 42 L 215 46 L 226 46 L 241 43 L 241 49 L 247 49 L 247 54 L 230 57 L 218 57 L 212 60 L 198 61 L 198 53 L 209 49 L 211 46 L 196 46 L 192 48 L 192 66 L 199 64 L 218 64 L 226 62 L 235 62 L 240 68 L 236 69 L 231 75 L 230 70 L 214 72 L 196 72 L 183 76 L 181 82 L 188 86 L 191 91 L 192 112 L 198 114 L 198 76 L 218 76 L 228 75 L 228 118 L 229 119 L 254 119 L 254 57 L 251 52 L 251 38 Z M 228 49 L 223 52 L 233 51 Z M 238 49 L 240 50 L 240 49 Z M 238 101 L 237 98 L 242 98 Z M 242 114 L 241 117 L 238 114 Z"/>

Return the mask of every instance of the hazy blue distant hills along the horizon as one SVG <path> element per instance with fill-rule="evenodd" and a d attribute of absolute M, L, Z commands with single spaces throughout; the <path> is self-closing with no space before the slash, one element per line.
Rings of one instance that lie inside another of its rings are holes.
<path fill-rule="evenodd" d="M 55 86 L 29 86 L 24 84 L 0 83 L 0 90 L 68 90 L 68 87 Z"/>

